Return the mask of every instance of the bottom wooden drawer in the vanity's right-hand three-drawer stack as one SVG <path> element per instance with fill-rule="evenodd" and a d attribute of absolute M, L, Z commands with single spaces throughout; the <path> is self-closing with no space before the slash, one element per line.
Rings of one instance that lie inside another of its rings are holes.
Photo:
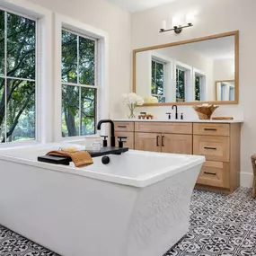
<path fill-rule="evenodd" d="M 198 184 L 214 186 L 219 188 L 229 188 L 229 163 L 210 162 L 203 164 Z"/>

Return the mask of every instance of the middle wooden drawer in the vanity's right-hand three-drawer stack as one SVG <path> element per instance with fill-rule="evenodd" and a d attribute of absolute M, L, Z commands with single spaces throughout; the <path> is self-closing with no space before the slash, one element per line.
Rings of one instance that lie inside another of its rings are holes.
<path fill-rule="evenodd" d="M 229 137 L 193 136 L 193 154 L 205 155 L 209 161 L 229 162 Z"/>

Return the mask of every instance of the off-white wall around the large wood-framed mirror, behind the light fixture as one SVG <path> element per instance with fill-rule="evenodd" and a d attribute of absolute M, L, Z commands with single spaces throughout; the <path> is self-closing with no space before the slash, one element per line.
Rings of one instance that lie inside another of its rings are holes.
<path fill-rule="evenodd" d="M 220 106 L 216 115 L 243 118 L 241 171 L 242 185 L 252 184 L 251 154 L 256 152 L 256 1 L 255 0 L 179 0 L 154 9 L 132 14 L 132 49 L 189 40 L 226 31 L 240 31 L 240 103 Z M 180 35 L 174 32 L 159 33 L 161 22 L 179 13 L 195 13 L 192 28 L 184 29 Z M 190 106 L 179 107 L 185 118 L 197 118 Z M 143 108 L 154 113 L 156 118 L 166 118 L 171 107 Z"/>

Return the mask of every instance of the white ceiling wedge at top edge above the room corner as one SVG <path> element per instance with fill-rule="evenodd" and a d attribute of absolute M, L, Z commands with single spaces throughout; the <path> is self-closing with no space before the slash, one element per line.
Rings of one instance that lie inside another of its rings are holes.
<path fill-rule="evenodd" d="M 143 11 L 162 4 L 172 3 L 177 0 L 107 0 L 112 4 L 118 5 L 121 9 L 134 13 Z"/>

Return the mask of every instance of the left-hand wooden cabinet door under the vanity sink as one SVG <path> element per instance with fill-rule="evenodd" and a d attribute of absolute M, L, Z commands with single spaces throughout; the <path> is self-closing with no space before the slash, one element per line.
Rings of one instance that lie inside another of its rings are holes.
<path fill-rule="evenodd" d="M 161 152 L 161 134 L 136 132 L 134 137 L 135 149 L 143 151 Z"/>

